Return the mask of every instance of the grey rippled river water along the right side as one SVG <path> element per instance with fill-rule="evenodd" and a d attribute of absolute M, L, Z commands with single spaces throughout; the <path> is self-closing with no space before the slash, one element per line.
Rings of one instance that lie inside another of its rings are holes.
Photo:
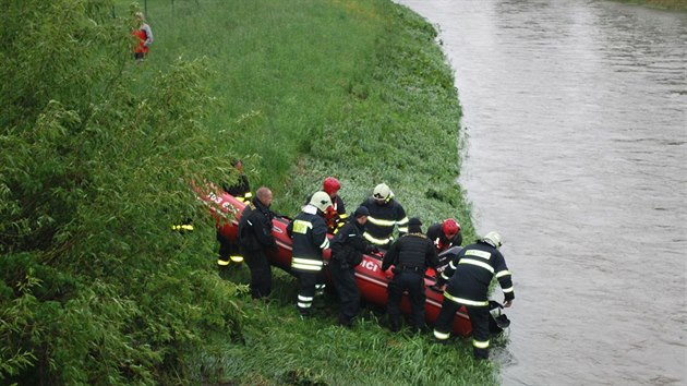
<path fill-rule="evenodd" d="M 478 232 L 505 239 L 503 384 L 687 384 L 687 13 L 397 2 L 441 31 L 459 181 Z"/>

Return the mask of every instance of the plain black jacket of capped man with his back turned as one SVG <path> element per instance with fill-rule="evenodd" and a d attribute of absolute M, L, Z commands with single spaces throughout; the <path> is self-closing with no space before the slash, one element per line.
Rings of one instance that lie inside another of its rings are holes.
<path fill-rule="evenodd" d="M 422 233 L 408 233 L 396 240 L 384 255 L 382 270 L 387 270 L 391 265 L 396 265 L 399 270 L 420 274 L 424 274 L 427 267 L 436 268 L 434 244 Z"/>

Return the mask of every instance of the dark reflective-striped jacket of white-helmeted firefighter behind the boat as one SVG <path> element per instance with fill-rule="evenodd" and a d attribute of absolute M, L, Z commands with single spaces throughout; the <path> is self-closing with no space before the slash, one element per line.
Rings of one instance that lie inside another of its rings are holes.
<path fill-rule="evenodd" d="M 403 236 L 408 232 L 408 216 L 406 210 L 396 200 L 379 205 L 372 197 L 361 204 L 370 210 L 365 224 L 364 238 L 375 245 L 387 245 L 394 241 L 394 227 L 398 226 L 398 232 Z"/>

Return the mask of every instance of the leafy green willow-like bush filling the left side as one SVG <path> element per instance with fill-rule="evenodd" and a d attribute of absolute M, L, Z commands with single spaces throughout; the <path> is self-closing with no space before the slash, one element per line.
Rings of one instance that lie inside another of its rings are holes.
<path fill-rule="evenodd" d="M 231 170 L 202 124 L 207 65 L 146 73 L 111 7 L 1 4 L 0 379 L 179 382 L 204 330 L 240 331 L 191 190 Z M 184 217 L 200 231 L 170 232 Z"/>

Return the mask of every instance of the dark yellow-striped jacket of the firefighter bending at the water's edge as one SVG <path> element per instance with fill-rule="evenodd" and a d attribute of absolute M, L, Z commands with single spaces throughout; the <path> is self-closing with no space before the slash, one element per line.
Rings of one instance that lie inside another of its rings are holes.
<path fill-rule="evenodd" d="M 465 305 L 487 306 L 487 290 L 496 276 L 506 301 L 515 299 L 510 272 L 501 252 L 485 242 L 463 248 L 439 276 L 437 285 L 448 281 L 444 297 Z"/>

